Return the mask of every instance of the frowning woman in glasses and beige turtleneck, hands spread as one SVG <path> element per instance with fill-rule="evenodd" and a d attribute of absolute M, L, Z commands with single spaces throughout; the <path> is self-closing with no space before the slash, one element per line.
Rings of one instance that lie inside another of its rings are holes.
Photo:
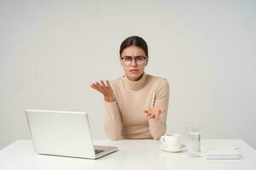
<path fill-rule="evenodd" d="M 169 84 L 144 72 L 148 45 L 142 37 L 127 37 L 119 54 L 125 76 L 90 85 L 104 96 L 105 131 L 113 140 L 160 139 L 166 133 Z"/>

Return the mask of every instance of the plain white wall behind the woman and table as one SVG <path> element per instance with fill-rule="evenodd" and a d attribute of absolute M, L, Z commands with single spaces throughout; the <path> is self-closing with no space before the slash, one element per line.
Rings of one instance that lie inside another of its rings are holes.
<path fill-rule="evenodd" d="M 87 111 L 105 139 L 91 82 L 121 77 L 119 45 L 144 37 L 147 73 L 171 85 L 168 132 L 256 148 L 255 1 L 0 1 L 0 149 L 30 138 L 24 111 Z M 253 67 L 254 66 L 254 67 Z"/>

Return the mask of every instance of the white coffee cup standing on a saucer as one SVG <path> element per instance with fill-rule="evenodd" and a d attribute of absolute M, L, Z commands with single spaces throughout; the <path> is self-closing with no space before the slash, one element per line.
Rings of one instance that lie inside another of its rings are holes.
<path fill-rule="evenodd" d="M 181 136 L 177 133 L 169 133 L 161 136 L 160 142 L 165 144 L 168 150 L 177 150 L 181 146 Z"/>

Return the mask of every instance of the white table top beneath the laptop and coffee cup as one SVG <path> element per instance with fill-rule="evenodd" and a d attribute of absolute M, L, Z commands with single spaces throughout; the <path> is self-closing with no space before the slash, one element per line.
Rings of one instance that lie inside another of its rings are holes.
<path fill-rule="evenodd" d="M 17 140 L 0 150 L 0 170 L 90 170 L 90 169 L 127 169 L 127 170 L 255 170 L 256 151 L 239 139 L 206 139 L 202 145 L 222 145 L 239 147 L 240 160 L 206 160 L 203 157 L 190 158 L 187 151 L 169 153 L 160 150 L 160 141 L 137 140 L 96 140 L 95 144 L 118 146 L 119 151 L 98 160 L 87 160 L 62 156 L 44 156 L 34 152 L 32 140 Z"/>

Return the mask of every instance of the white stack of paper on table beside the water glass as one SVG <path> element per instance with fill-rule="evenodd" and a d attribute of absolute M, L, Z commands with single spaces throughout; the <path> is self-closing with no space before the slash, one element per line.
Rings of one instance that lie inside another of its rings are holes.
<path fill-rule="evenodd" d="M 207 159 L 233 160 L 241 158 L 239 150 L 233 148 L 205 148 L 204 151 Z"/>

